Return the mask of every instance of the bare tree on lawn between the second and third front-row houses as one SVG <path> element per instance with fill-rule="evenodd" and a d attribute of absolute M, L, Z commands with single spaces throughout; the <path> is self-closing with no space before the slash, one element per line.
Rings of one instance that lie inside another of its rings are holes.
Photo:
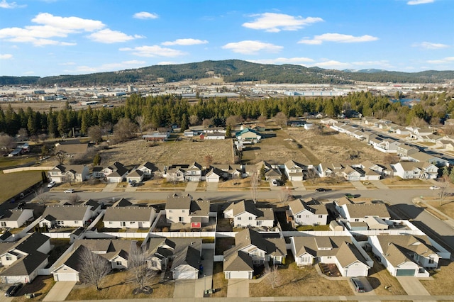
<path fill-rule="evenodd" d="M 129 253 L 128 271 L 133 276 L 140 290 L 143 290 L 147 284 L 150 284 L 151 279 L 157 274 L 157 271 L 148 265 L 145 248 L 138 247 L 137 245 Z"/>

